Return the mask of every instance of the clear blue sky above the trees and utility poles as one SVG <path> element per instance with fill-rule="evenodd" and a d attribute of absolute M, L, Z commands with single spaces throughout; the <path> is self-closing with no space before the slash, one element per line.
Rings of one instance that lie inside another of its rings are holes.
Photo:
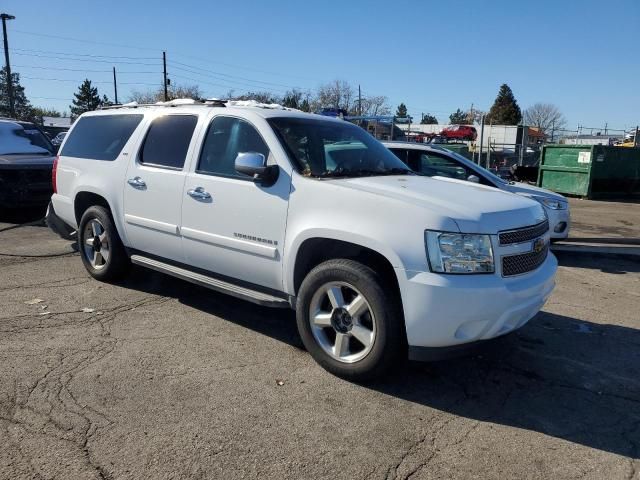
<path fill-rule="evenodd" d="M 554 103 L 570 128 L 640 123 L 638 0 L 9 0 L 0 8 L 17 17 L 8 24 L 11 62 L 27 95 L 60 110 L 84 78 L 105 82 L 99 91 L 112 98 L 113 65 L 121 100 L 152 88 L 166 50 L 172 81 L 198 79 L 207 96 L 340 78 L 443 121 L 472 103 L 488 109 L 507 83 L 522 108 Z M 40 80 L 54 78 L 68 81 Z"/>

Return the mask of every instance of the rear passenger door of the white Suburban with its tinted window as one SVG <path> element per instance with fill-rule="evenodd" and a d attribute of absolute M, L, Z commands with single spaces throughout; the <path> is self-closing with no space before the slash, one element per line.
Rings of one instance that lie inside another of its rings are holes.
<path fill-rule="evenodd" d="M 132 248 L 178 262 L 185 163 L 197 115 L 160 115 L 150 122 L 124 185 L 124 220 Z"/>

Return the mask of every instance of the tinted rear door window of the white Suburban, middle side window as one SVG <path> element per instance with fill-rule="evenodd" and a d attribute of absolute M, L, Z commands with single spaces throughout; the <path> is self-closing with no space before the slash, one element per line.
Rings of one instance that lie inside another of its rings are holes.
<path fill-rule="evenodd" d="M 165 115 L 151 122 L 138 157 L 140 163 L 182 169 L 198 117 Z"/>

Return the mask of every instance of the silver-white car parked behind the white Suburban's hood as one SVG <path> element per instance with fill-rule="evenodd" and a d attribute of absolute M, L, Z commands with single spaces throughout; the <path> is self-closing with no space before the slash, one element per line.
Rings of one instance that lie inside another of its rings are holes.
<path fill-rule="evenodd" d="M 547 213 L 551 239 L 562 240 L 569 236 L 571 214 L 569 203 L 562 195 L 526 183 L 508 182 L 446 147 L 411 142 L 383 143 L 413 171 L 423 175 L 480 183 L 532 198 L 540 202 Z"/>

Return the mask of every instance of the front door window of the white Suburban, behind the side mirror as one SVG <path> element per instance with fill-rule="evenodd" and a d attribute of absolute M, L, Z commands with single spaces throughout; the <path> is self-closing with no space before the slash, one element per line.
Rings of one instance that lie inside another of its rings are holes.
<path fill-rule="evenodd" d="M 246 152 L 269 157 L 267 145 L 251 124 L 239 118 L 216 117 L 209 125 L 196 172 L 249 178 L 235 169 L 236 157 Z"/>

